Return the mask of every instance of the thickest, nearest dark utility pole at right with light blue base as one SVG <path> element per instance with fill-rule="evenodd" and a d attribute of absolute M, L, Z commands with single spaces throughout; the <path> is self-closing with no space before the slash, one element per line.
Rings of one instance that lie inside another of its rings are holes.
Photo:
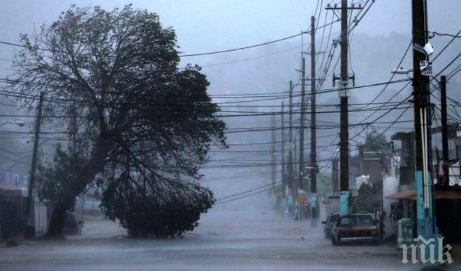
<path fill-rule="evenodd" d="M 425 46 L 427 43 L 426 1 L 412 0 L 412 33 L 414 45 Z M 421 74 L 420 61 L 429 61 L 423 52 L 413 50 L 413 86 L 415 116 L 415 150 L 416 150 L 416 218 L 418 235 L 434 238 L 434 208 L 432 195 L 432 177 L 430 176 L 430 100 L 429 79 Z M 437 245 L 437 244 L 436 244 Z M 435 249 L 437 251 L 437 249 Z"/>

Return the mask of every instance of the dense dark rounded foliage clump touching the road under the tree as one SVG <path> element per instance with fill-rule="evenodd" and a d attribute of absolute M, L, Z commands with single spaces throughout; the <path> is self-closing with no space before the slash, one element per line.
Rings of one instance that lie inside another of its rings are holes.
<path fill-rule="evenodd" d="M 101 208 L 110 219 L 119 219 L 131 237 L 167 238 L 192 231 L 214 203 L 210 189 L 196 183 L 159 187 L 112 183 L 103 192 Z"/>

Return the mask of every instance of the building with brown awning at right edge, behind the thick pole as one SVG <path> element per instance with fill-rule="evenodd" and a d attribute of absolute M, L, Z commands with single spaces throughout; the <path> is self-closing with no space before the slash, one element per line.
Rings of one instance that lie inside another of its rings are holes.
<path fill-rule="evenodd" d="M 449 182 L 442 186 L 437 181 L 437 159 L 432 160 L 432 176 L 434 178 L 435 219 L 439 233 L 446 237 L 450 244 L 461 243 L 461 127 L 451 127 L 449 130 Z M 432 157 L 441 157 L 441 150 L 437 148 L 440 138 L 440 128 L 432 129 Z M 398 201 L 402 217 L 410 218 L 414 222 L 416 234 L 416 188 L 415 188 L 415 153 L 414 132 L 397 132 L 391 139 L 394 142 L 394 157 L 397 157 L 396 174 L 398 192 L 384 194 L 387 199 Z"/>

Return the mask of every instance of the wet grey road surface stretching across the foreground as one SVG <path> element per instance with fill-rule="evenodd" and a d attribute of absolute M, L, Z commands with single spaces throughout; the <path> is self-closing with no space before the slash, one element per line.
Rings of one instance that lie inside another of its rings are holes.
<path fill-rule="evenodd" d="M 216 210 L 183 238 L 124 238 L 116 223 L 0 249 L 0 270 L 418 270 L 388 245 L 332 247 L 320 229 L 271 211 Z"/>

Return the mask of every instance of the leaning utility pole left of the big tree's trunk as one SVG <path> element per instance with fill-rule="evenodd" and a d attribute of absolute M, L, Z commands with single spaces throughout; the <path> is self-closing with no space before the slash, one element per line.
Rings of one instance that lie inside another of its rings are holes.
<path fill-rule="evenodd" d="M 40 124 L 42 118 L 43 106 L 43 92 L 40 93 L 40 100 L 38 100 L 37 119 L 35 123 L 35 137 L 34 137 L 34 150 L 32 152 L 32 165 L 29 178 L 29 185 L 27 190 L 27 237 L 35 237 L 35 204 L 34 204 L 34 186 L 37 168 L 37 154 L 38 154 L 38 140 L 40 139 Z"/>

